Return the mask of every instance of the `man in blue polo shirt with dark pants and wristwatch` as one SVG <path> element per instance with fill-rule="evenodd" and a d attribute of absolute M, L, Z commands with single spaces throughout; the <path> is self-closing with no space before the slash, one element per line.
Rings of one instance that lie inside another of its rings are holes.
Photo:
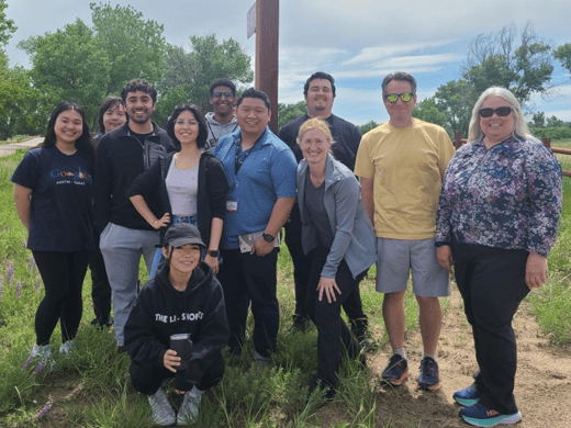
<path fill-rule="evenodd" d="M 219 272 L 232 333 L 228 346 L 232 354 L 242 352 L 251 303 L 254 357 L 265 362 L 276 350 L 278 234 L 295 200 L 296 171 L 293 153 L 268 128 L 270 117 L 268 95 L 248 89 L 236 103 L 239 131 L 214 148 L 231 183 Z"/>

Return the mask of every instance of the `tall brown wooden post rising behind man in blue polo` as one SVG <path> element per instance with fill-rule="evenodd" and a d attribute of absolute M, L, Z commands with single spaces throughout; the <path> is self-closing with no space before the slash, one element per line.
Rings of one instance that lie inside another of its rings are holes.
<path fill-rule="evenodd" d="M 271 102 L 270 129 L 278 134 L 279 0 L 256 0 L 256 89 Z"/>

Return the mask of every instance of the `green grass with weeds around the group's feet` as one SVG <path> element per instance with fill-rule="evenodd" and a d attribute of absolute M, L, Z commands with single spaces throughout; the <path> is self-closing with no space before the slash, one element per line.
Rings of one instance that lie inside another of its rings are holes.
<path fill-rule="evenodd" d="M 571 142 L 564 143 L 571 146 Z M 558 145 L 558 144 L 553 144 Z M 21 370 L 34 343 L 33 319 L 43 285 L 30 251 L 25 229 L 14 211 L 9 178 L 23 153 L 0 159 L 0 427 L 150 427 L 148 404 L 134 392 L 128 379 L 128 357 L 117 354 L 111 331 L 90 326 L 93 317 L 88 275 L 83 284 L 83 318 L 71 360 L 57 352 L 60 334 L 52 338 L 55 371 L 33 378 Z M 571 157 L 563 160 L 571 170 Z M 550 260 L 548 284 L 535 294 L 531 311 L 542 333 L 553 343 L 567 346 L 571 331 L 571 179 L 564 180 L 564 207 L 559 241 Z M 346 361 L 336 401 L 345 417 L 335 423 L 320 419 L 323 398 L 307 399 L 309 376 L 316 370 L 316 333 L 290 333 L 294 307 L 292 266 L 283 247 L 279 258 L 281 327 L 279 352 L 269 368 L 257 365 L 249 352 L 226 368 L 223 381 L 203 397 L 197 427 L 395 427 L 377 418 L 378 394 L 367 372 Z M 141 269 L 142 279 L 146 271 Z M 387 346 L 381 316 L 382 295 L 374 291 L 374 268 L 361 283 L 365 311 L 376 345 Z M 443 299 L 446 311 L 447 300 Z M 417 328 L 417 306 L 406 296 L 406 328 Z M 445 334 L 443 331 L 443 334 Z M 180 398 L 179 403 L 180 403 Z M 418 425 L 406 425 L 408 428 Z"/>

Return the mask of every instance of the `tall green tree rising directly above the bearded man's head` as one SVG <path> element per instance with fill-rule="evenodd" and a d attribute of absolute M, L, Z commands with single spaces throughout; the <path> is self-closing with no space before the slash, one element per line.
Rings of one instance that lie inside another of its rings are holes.
<path fill-rule="evenodd" d="M 145 20 L 131 5 L 90 3 L 89 7 L 94 45 L 111 65 L 108 78 L 101 82 L 104 97 L 117 94 L 134 78 L 158 82 L 167 65 L 164 25 Z"/>

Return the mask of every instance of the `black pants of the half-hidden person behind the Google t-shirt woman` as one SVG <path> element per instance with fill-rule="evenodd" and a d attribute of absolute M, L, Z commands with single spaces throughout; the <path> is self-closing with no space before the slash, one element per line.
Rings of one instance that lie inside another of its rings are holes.
<path fill-rule="evenodd" d="M 91 270 L 91 299 L 93 300 L 93 312 L 99 325 L 111 323 L 111 285 L 105 271 L 103 255 L 99 249 L 99 234 L 96 236 L 97 249 L 89 260 Z"/>

